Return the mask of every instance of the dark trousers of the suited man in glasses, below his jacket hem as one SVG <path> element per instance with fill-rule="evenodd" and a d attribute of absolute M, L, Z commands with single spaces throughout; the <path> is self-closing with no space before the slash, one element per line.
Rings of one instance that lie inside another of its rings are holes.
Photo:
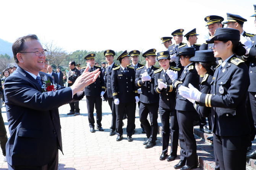
<path fill-rule="evenodd" d="M 40 153 L 38 153 L 40 154 Z M 44 166 L 24 166 L 24 165 L 10 165 L 8 164 L 9 170 L 58 170 L 58 144 L 52 154 L 50 162 Z"/>

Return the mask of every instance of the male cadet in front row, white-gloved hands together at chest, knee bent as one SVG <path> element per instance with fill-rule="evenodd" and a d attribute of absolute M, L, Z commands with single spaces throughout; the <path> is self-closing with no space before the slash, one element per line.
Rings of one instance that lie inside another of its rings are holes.
<path fill-rule="evenodd" d="M 159 67 L 155 67 L 156 64 L 156 49 L 149 49 L 144 52 L 146 65 L 140 67 L 136 71 L 135 83 L 138 88 L 141 88 L 141 94 L 139 101 L 139 121 L 141 121 L 147 135 L 147 141 L 143 143 L 145 148 L 152 148 L 156 145 L 157 140 L 157 117 L 159 108 L 159 94 L 154 91 L 155 86 L 155 73 Z M 149 114 L 150 122 L 147 120 Z"/>

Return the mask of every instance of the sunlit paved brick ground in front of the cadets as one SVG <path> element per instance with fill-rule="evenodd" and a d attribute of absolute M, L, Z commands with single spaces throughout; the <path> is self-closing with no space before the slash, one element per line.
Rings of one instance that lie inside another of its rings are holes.
<path fill-rule="evenodd" d="M 166 160 L 160 161 L 159 156 L 162 151 L 161 136 L 158 135 L 157 145 L 150 149 L 145 149 L 142 144 L 146 141 L 146 134 L 141 133 L 140 122 L 136 117 L 136 133 L 133 135 L 133 141 L 128 142 L 126 128 L 124 128 L 124 138 L 122 141 L 116 141 L 115 136 L 109 136 L 111 125 L 111 110 L 107 102 L 102 103 L 102 127 L 105 132 L 89 132 L 89 122 L 86 108 L 86 100 L 79 103 L 79 116 L 67 116 L 70 106 L 63 105 L 59 108 L 60 121 L 62 126 L 63 153 L 59 151 L 59 167 L 65 170 L 173 170 L 173 166 L 179 162 L 177 159 L 172 162 Z M 8 123 L 5 107 L 2 109 L 3 119 L 6 130 Z M 96 120 L 96 114 L 94 119 Z M 125 126 L 127 121 L 124 121 Z M 10 135 L 8 134 L 8 137 Z M 170 151 L 170 147 L 169 147 Z M 179 154 L 179 151 L 178 151 Z M 2 162 L 3 156 L 0 154 L 0 170 L 7 170 L 7 163 Z M 196 170 L 199 170 L 197 168 Z"/>

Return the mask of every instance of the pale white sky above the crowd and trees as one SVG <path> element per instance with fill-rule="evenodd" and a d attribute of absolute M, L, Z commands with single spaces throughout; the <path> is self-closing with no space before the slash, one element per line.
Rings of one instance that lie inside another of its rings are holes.
<path fill-rule="evenodd" d="M 250 17 L 253 4 L 255 0 L 1 1 L 0 38 L 13 43 L 36 34 L 68 52 L 151 48 L 160 52 L 166 51 L 160 38 L 177 29 L 187 33 L 196 28 L 197 44 L 204 43 L 208 33 L 204 17 L 209 15 L 226 20 L 226 13 L 238 14 L 248 20 L 244 30 L 256 34 L 255 17 Z"/>

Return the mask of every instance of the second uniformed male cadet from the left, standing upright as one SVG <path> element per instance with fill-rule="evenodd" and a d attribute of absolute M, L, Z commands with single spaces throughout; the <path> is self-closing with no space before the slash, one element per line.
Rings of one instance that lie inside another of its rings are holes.
<path fill-rule="evenodd" d="M 105 100 L 109 102 L 110 109 L 112 111 L 112 123 L 110 127 L 110 136 L 115 135 L 115 122 L 116 122 L 116 113 L 115 113 L 115 103 L 114 103 L 114 98 L 112 94 L 112 85 L 111 85 L 111 75 L 112 75 L 112 69 L 118 67 L 119 65 L 114 63 L 114 56 L 115 52 L 111 49 L 108 49 L 104 51 L 104 56 L 106 57 L 106 61 L 108 66 L 105 67 L 105 75 L 104 75 L 104 81 L 106 84 L 106 91 L 104 94 L 104 97 L 106 98 Z"/>

